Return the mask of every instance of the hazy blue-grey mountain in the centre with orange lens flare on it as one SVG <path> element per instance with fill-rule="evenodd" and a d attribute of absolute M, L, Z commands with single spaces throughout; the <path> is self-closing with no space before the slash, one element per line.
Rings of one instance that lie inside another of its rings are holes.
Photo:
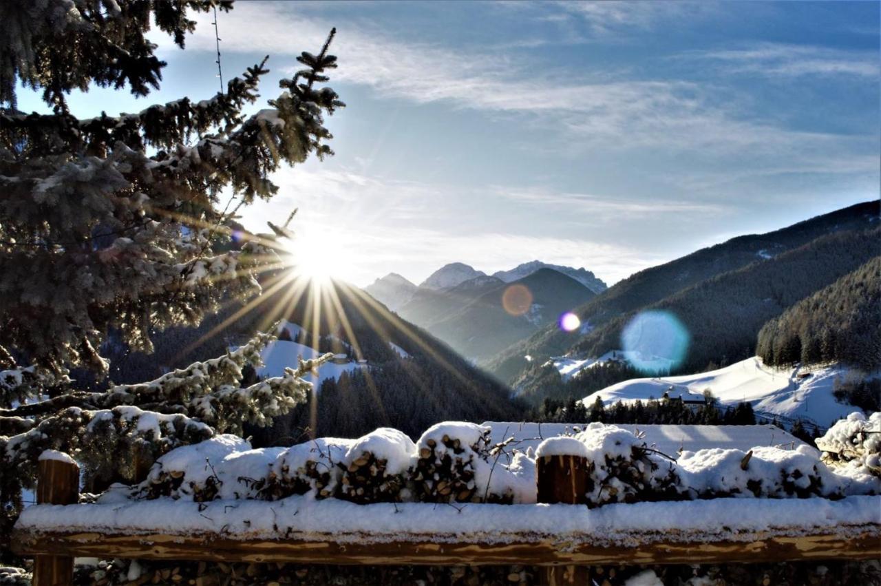
<path fill-rule="evenodd" d="M 512 300 L 517 294 L 526 298 Z M 561 314 L 592 297 L 594 293 L 574 278 L 539 269 L 492 287 L 458 311 L 427 324 L 426 329 L 463 356 L 484 360 L 544 325 L 556 324 Z"/>

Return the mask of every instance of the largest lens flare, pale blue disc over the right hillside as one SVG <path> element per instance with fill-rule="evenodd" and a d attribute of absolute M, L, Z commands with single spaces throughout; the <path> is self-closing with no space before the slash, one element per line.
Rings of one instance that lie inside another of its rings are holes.
<path fill-rule="evenodd" d="M 621 347 L 634 368 L 645 374 L 669 373 L 682 364 L 691 336 L 676 315 L 643 311 L 621 332 Z"/>

